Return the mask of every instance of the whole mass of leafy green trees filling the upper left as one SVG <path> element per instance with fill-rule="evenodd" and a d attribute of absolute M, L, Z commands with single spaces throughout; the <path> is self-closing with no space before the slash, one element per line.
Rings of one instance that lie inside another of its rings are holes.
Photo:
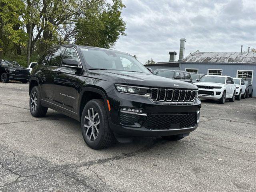
<path fill-rule="evenodd" d="M 122 0 L 0 0 L 0 58 L 33 60 L 64 43 L 110 48 L 126 35 L 124 7 Z"/>

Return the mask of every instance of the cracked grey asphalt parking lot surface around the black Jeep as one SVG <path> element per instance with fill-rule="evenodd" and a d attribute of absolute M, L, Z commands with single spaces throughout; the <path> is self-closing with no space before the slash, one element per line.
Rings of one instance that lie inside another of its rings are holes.
<path fill-rule="evenodd" d="M 88 148 L 80 123 L 29 111 L 28 84 L 0 83 L 0 191 L 256 191 L 256 98 L 202 100 L 200 125 L 176 142 L 136 138 Z"/>

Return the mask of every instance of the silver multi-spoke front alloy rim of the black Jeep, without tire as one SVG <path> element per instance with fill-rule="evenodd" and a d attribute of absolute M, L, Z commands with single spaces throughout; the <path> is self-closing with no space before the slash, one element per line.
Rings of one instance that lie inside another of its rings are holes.
<path fill-rule="evenodd" d="M 94 108 L 88 109 L 87 115 L 84 117 L 84 129 L 88 140 L 93 141 L 99 134 L 100 118 Z"/>

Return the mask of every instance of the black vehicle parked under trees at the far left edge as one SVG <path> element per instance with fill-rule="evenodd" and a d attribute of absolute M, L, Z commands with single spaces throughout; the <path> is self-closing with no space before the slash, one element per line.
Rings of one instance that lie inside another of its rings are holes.
<path fill-rule="evenodd" d="M 9 80 L 16 80 L 27 83 L 29 76 L 29 70 L 20 66 L 17 62 L 0 60 L 0 77 L 2 82 L 7 83 Z"/>

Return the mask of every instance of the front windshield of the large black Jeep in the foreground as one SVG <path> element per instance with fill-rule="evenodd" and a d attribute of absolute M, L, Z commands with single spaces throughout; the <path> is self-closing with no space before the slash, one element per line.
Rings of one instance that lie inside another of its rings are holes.
<path fill-rule="evenodd" d="M 120 70 L 151 74 L 138 60 L 129 54 L 104 49 L 80 48 L 89 70 Z"/>

